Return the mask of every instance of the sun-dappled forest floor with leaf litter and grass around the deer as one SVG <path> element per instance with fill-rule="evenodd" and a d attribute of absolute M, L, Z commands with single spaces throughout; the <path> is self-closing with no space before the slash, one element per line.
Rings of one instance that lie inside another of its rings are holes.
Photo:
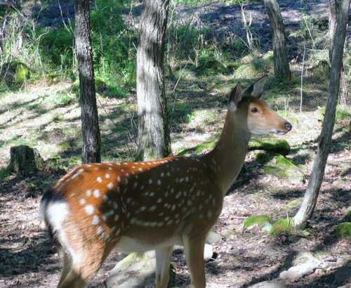
<path fill-rule="evenodd" d="M 295 6 L 296 2 L 283 4 Z M 317 6 L 322 7 L 320 13 L 325 14 L 326 2 L 307 3 L 316 5 L 316 13 Z M 247 9 L 253 7 L 253 13 L 256 11 L 253 19 L 265 19 L 259 24 L 263 27 L 268 22 L 261 6 L 253 4 Z M 223 8 L 216 3 L 212 8 L 203 9 L 211 15 L 213 27 L 229 26 L 225 22 L 229 19 L 227 13 L 238 15 L 237 20 L 234 17 L 230 21 L 241 25 L 240 13 L 235 12 L 237 6 Z M 300 19 L 299 13 L 296 10 L 291 20 Z M 301 56 L 295 52 L 292 53 L 294 57 Z M 298 64 L 292 67 L 293 73 L 298 74 Z M 190 73 L 178 83 L 176 80 L 166 82 L 168 102 L 172 103 L 174 112 L 171 113 L 173 154 L 218 136 L 224 121 L 227 93 L 236 81 L 223 75 L 213 80 Z M 244 81 L 244 85 L 247 83 Z M 37 148 L 51 163 L 50 168 L 40 174 L 26 178 L 9 176 L 0 183 L 0 287 L 55 287 L 58 283 L 60 258 L 48 240 L 38 210 L 44 190 L 67 171 L 63 163 L 70 162 L 69 168 L 75 166 L 80 155 L 79 105 L 77 101 L 62 104 L 54 100 L 71 86 L 69 81 L 43 81 L 30 84 L 22 91 L 0 95 L 0 168 L 8 165 L 9 148 L 19 144 Z M 272 94 L 286 94 L 273 98 L 269 104 L 293 124 L 293 130 L 286 136 L 266 138 L 284 138 L 289 142 L 291 153 L 287 158 L 298 165 L 307 180 L 322 127 L 318 107 L 325 103 L 326 89 L 325 83 L 310 86 L 304 95 L 303 113 L 299 112 L 297 85 L 286 89 L 270 81 L 265 93 L 268 98 L 272 98 Z M 131 151 L 135 150 L 135 98 L 98 96 L 98 106 L 105 160 L 131 157 Z M 351 286 L 351 241 L 335 235 L 336 225 L 344 222 L 350 212 L 351 137 L 350 114 L 347 115 L 336 122 L 324 182 L 306 230 L 273 237 L 258 225 L 244 229 L 246 216 L 265 214 L 274 221 L 293 217 L 298 205 L 291 205 L 291 202 L 301 199 L 307 187 L 307 181 L 297 177 L 267 174 L 265 164 L 255 161 L 255 152 L 248 153 L 241 174 L 225 197 L 223 213 L 214 228 L 220 240 L 213 244 L 213 258 L 206 261 L 208 287 L 249 287 L 265 280 L 277 280 L 282 271 L 292 266 L 298 251 L 309 251 L 319 265 L 296 280 L 279 279 L 286 287 Z M 124 256 L 112 253 L 89 287 L 104 287 L 108 271 Z M 191 287 L 181 249 L 174 251 L 172 264 L 176 272 L 172 287 Z"/>

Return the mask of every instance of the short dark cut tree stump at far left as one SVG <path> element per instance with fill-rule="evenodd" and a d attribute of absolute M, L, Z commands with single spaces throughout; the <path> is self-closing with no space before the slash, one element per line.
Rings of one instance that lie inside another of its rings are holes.
<path fill-rule="evenodd" d="M 27 177 L 44 168 L 44 159 L 41 158 L 38 150 L 27 145 L 11 147 L 10 156 L 10 171 L 17 175 Z"/>

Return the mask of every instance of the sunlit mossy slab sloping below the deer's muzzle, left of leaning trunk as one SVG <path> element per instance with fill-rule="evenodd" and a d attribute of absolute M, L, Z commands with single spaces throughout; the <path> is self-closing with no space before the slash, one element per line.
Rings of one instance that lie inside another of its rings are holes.
<path fill-rule="evenodd" d="M 277 176 L 278 178 L 305 181 L 303 171 L 283 155 L 272 153 L 272 159 L 265 166 L 264 170 L 265 173 Z"/>

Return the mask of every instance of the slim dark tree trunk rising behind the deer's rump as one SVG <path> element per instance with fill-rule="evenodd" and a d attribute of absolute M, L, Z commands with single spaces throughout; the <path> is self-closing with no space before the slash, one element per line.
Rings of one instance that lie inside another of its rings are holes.
<path fill-rule="evenodd" d="M 83 163 L 100 162 L 100 129 L 95 97 L 93 52 L 91 50 L 89 1 L 76 0 L 74 5 L 76 43 L 79 67 L 81 132 Z"/>

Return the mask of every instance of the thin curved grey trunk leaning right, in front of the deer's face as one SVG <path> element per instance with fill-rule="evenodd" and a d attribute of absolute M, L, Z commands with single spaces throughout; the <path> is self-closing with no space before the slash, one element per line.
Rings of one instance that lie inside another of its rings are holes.
<path fill-rule="evenodd" d="M 331 136 L 333 133 L 334 119 L 336 114 L 336 103 L 340 84 L 340 72 L 343 63 L 343 48 L 345 44 L 346 25 L 350 0 L 341 0 L 338 11 L 336 34 L 333 39 L 333 51 L 331 62 L 331 76 L 329 81 L 328 99 L 326 101 L 326 114 L 324 116 L 321 135 L 314 160 L 310 181 L 307 185 L 303 203 L 294 217 L 296 226 L 305 227 L 312 217 L 314 207 L 317 204 L 319 188 L 322 185 L 326 159 L 329 155 Z"/>

